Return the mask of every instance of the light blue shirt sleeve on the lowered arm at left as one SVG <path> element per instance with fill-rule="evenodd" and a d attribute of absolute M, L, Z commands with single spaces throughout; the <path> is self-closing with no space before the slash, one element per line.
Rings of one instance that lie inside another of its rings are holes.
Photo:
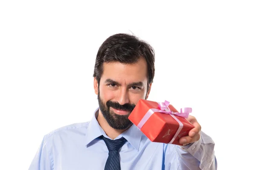
<path fill-rule="evenodd" d="M 44 136 L 41 145 L 29 166 L 29 170 L 52 170 L 53 161 L 51 161 L 49 151 L 47 151 L 47 136 Z"/>

